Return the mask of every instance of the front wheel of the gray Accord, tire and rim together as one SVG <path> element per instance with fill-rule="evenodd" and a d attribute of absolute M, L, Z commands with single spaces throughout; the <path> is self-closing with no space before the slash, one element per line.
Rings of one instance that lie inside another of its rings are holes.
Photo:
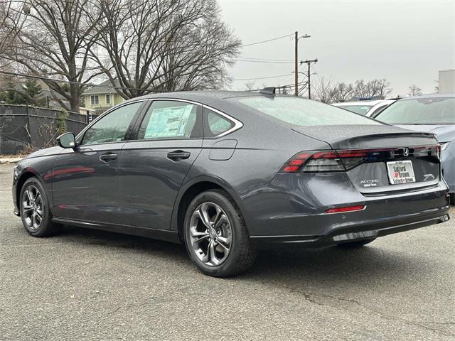
<path fill-rule="evenodd" d="M 28 234 L 33 237 L 48 237 L 58 232 L 61 225 L 52 222 L 48 196 L 37 178 L 26 180 L 19 199 L 22 224 Z"/>

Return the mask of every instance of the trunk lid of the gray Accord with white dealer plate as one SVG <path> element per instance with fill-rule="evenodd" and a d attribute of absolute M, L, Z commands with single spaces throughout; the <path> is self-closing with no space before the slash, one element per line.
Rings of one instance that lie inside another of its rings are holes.
<path fill-rule="evenodd" d="M 329 144 L 352 183 L 365 195 L 414 190 L 439 181 L 439 147 L 432 133 L 387 125 L 301 126 L 293 130 Z"/>

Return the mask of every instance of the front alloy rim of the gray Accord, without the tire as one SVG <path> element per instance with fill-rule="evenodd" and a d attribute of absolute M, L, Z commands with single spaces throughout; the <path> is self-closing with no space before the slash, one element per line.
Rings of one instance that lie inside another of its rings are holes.
<path fill-rule="evenodd" d="M 43 197 L 34 185 L 29 185 L 22 195 L 22 212 L 27 228 L 37 231 L 43 222 Z"/>

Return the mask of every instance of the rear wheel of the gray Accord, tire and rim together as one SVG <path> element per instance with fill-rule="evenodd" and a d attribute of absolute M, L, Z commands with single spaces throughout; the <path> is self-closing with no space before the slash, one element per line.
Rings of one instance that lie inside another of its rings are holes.
<path fill-rule="evenodd" d="M 235 276 L 250 269 L 255 260 L 242 212 L 223 190 L 200 193 L 191 201 L 184 239 L 193 263 L 209 276 Z"/>

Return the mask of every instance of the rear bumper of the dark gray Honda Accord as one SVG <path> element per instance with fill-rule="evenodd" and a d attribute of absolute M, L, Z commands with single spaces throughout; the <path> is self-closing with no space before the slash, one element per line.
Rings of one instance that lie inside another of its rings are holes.
<path fill-rule="evenodd" d="M 260 194 L 248 202 L 255 209 L 254 215 L 247 215 L 252 242 L 320 247 L 372 239 L 448 220 L 449 195 L 443 180 L 426 188 L 362 194 L 350 183 L 338 185 L 342 176 L 313 175 L 305 183 L 291 182 L 281 187 L 270 184 L 267 190 L 257 191 Z M 259 200 L 261 195 L 264 199 Z M 264 205 L 266 198 L 270 205 Z M 364 209 L 326 212 L 358 205 Z"/>

